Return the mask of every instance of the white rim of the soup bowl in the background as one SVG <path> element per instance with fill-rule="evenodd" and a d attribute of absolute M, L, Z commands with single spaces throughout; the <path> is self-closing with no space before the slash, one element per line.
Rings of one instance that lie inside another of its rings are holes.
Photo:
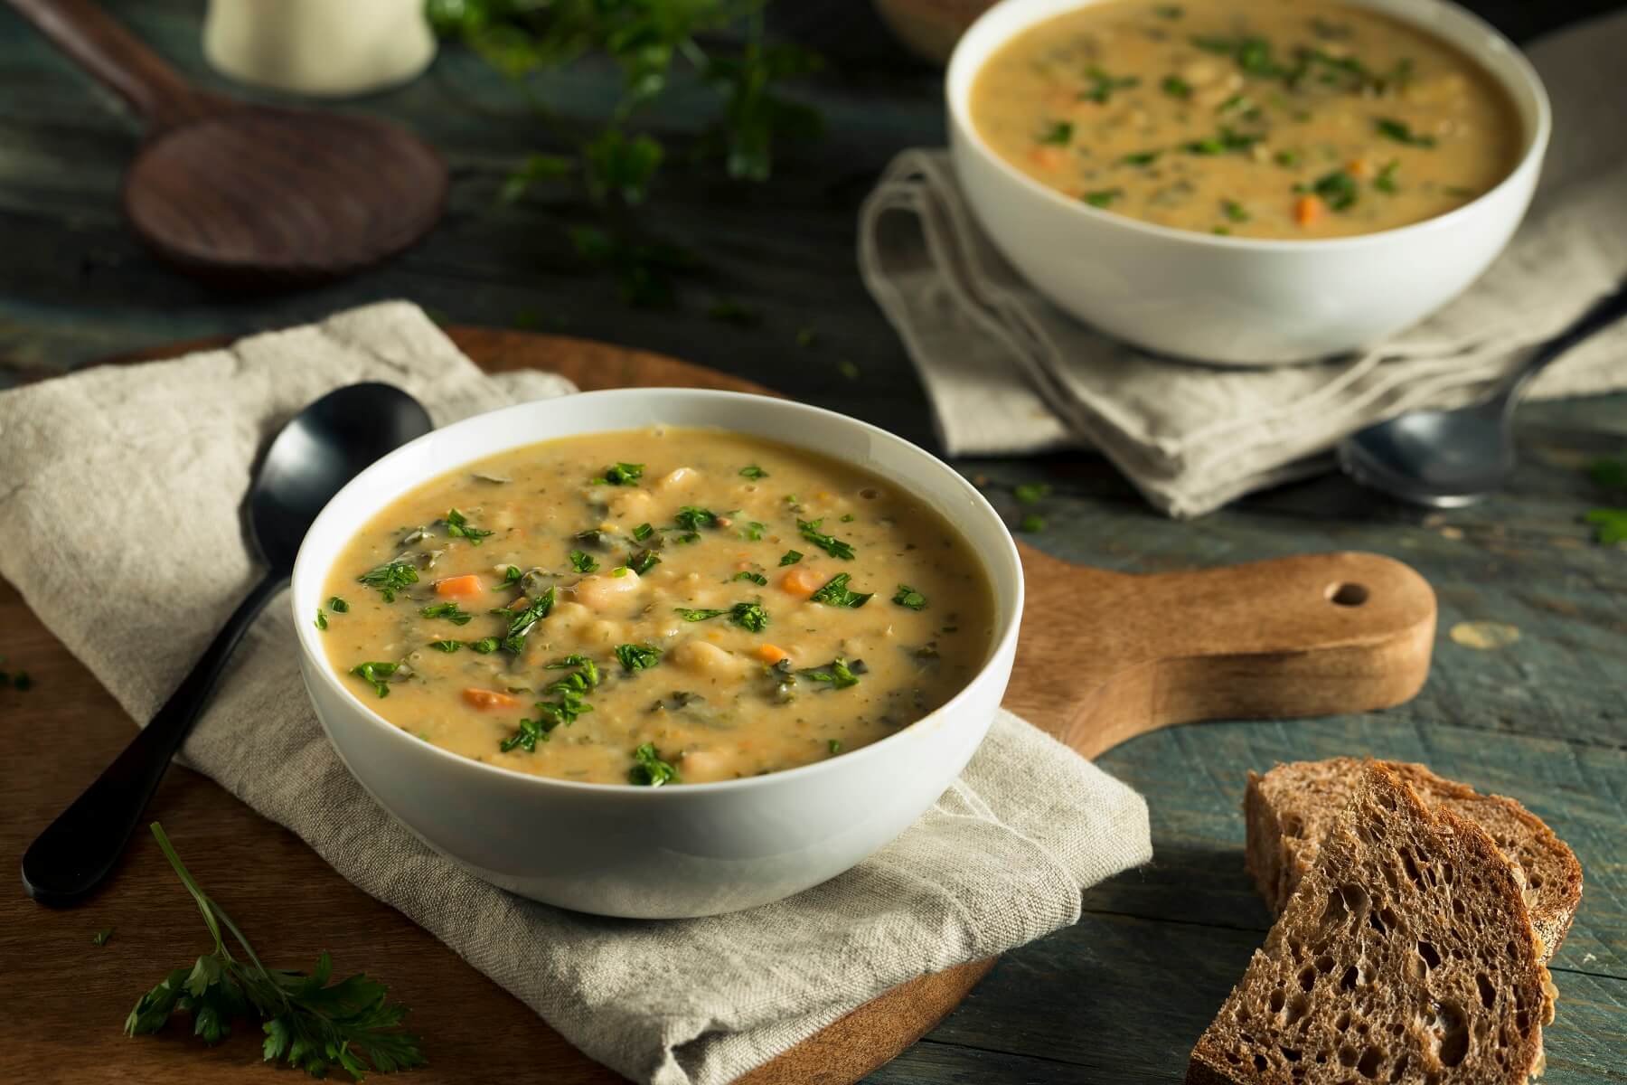
<path fill-rule="evenodd" d="M 1027 189 L 1030 194 L 1046 200 L 1049 205 L 1058 208 L 1066 208 L 1069 213 L 1080 213 L 1085 221 L 1101 223 L 1103 226 L 1119 226 L 1131 233 L 1142 233 L 1152 237 L 1160 237 L 1165 241 L 1183 241 L 1189 244 L 1209 246 L 1214 249 L 1233 249 L 1233 251 L 1253 251 L 1253 252 L 1328 252 L 1328 251 L 1347 251 L 1362 249 L 1376 244 L 1386 244 L 1389 241 L 1406 237 L 1417 237 L 1422 234 L 1430 234 L 1440 229 L 1450 229 L 1458 224 L 1459 220 L 1468 218 L 1476 208 L 1487 203 L 1492 197 L 1500 195 L 1518 184 L 1518 179 L 1536 168 L 1542 156 L 1547 153 L 1547 143 L 1554 129 L 1554 111 L 1547 99 L 1547 88 L 1542 85 L 1542 78 L 1538 75 L 1531 60 L 1524 55 L 1518 46 L 1515 46 L 1502 31 L 1482 20 L 1474 11 L 1453 3 L 1453 0 L 1412 0 L 1407 8 L 1391 8 L 1383 3 L 1383 0 L 1341 0 L 1350 7 L 1365 8 L 1376 11 L 1399 23 L 1406 23 L 1430 37 L 1442 39 L 1440 34 L 1427 24 L 1424 15 L 1443 15 L 1445 18 L 1458 20 L 1466 29 L 1472 29 L 1481 37 L 1481 44 L 1474 47 L 1463 46 L 1456 41 L 1446 41 L 1448 46 L 1466 54 L 1474 60 L 1492 80 L 1495 80 L 1503 93 L 1510 98 L 1518 99 L 1521 93 L 1529 94 L 1536 106 L 1533 124 L 1528 127 L 1524 150 L 1520 153 L 1518 161 L 1503 174 L 1502 181 L 1494 184 L 1490 189 L 1474 197 L 1461 207 L 1455 207 L 1450 211 L 1435 215 L 1432 218 L 1424 218 L 1415 223 L 1406 223 L 1404 226 L 1391 226 L 1389 229 L 1380 229 L 1368 234 L 1349 234 L 1344 237 L 1232 237 L 1225 234 L 1210 234 L 1196 229 L 1178 229 L 1175 226 L 1160 226 L 1158 223 L 1145 223 L 1139 218 L 1129 218 L 1128 215 L 1114 215 L 1103 208 L 1090 207 L 1082 200 L 1071 200 L 1056 189 L 1035 181 L 1023 171 L 1012 166 L 1005 158 L 1002 158 L 988 142 L 983 133 L 978 132 L 976 124 L 971 120 L 971 86 L 976 81 L 983 65 L 1004 46 L 1007 46 L 1014 37 L 1033 29 L 1040 23 L 1051 18 L 1059 18 L 1069 11 L 1079 8 L 1097 7 L 1103 3 L 1119 3 L 1121 0 L 1062 0 L 1054 3 L 1053 0 L 999 0 L 992 7 L 986 8 L 971 26 L 960 36 L 955 42 L 955 52 L 950 54 L 949 65 L 944 73 L 944 102 L 949 112 L 950 135 L 957 143 L 975 151 L 984 161 L 992 163 L 994 169 L 999 171 L 1009 181 L 1015 181 L 1020 187 Z M 976 44 L 979 28 L 984 23 L 991 23 L 994 18 L 1001 18 L 999 13 L 1012 11 L 1022 7 L 1033 5 L 1038 11 L 1032 18 L 1022 18 L 1020 24 L 1010 33 L 996 37 L 986 47 L 978 50 L 979 55 L 970 55 L 973 52 L 968 42 Z M 1511 80 L 1505 78 L 1497 65 L 1487 60 L 1489 50 L 1485 42 L 1500 47 L 1503 57 L 1510 62 L 1515 72 L 1518 72 L 1521 83 L 1516 86 Z M 971 72 L 966 72 L 966 68 Z M 955 88 L 963 86 L 962 93 Z M 1518 106 L 1518 101 L 1515 102 Z"/>

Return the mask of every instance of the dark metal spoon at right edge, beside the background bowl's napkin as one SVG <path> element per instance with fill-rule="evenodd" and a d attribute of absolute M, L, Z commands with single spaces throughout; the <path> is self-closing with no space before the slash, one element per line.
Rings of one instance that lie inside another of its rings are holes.
<path fill-rule="evenodd" d="M 1437 509 L 1502 490 L 1515 468 L 1513 413 L 1547 363 L 1627 314 L 1627 285 L 1542 343 L 1497 395 L 1461 410 L 1420 410 L 1359 429 L 1339 444 L 1346 475 L 1401 501 Z"/>

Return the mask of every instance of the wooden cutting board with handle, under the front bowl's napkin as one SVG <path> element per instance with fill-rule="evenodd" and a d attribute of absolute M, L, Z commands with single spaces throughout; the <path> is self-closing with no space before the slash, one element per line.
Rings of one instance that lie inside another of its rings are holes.
<path fill-rule="evenodd" d="M 451 329 L 488 371 L 534 366 L 579 387 L 680 386 L 765 392 L 672 358 L 604 343 Z M 166 358 L 208 343 L 176 343 Z M 132 358 L 132 359 L 138 359 Z M 1022 550 L 1028 607 L 1005 706 L 1085 756 L 1167 724 L 1215 717 L 1359 712 L 1411 698 L 1429 670 L 1435 595 L 1417 573 L 1336 553 L 1196 573 L 1131 576 Z M 0 865 L 130 737 L 130 721 L 0 581 L 0 669 L 34 688 L 0 691 Z M 413 1082 L 620 1080 L 400 913 L 348 885 L 291 833 L 213 782 L 176 768 L 155 799 L 200 883 L 268 963 L 309 966 L 327 948 L 340 974 L 368 971 L 413 1007 L 431 1067 Z M 114 935 L 93 947 L 106 927 Z M 26 991 L 0 1013 L 0 1080 L 267 1082 L 259 1041 L 213 1049 L 184 1030 L 132 1041 L 120 1023 L 164 971 L 208 935 L 146 838 L 88 904 L 50 911 L 0 893 L 0 973 Z M 906 983 L 742 1078 L 747 1085 L 848 1085 L 919 1039 L 992 966 L 975 961 Z M 26 1009 L 24 1009 L 26 1007 Z"/>

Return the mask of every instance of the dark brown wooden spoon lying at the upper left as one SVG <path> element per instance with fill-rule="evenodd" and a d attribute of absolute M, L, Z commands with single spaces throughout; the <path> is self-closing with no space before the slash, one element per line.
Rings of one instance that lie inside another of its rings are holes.
<path fill-rule="evenodd" d="M 195 89 L 89 0 L 10 3 L 146 120 L 124 211 L 189 275 L 247 290 L 327 281 L 441 218 L 446 164 L 403 129 Z"/>

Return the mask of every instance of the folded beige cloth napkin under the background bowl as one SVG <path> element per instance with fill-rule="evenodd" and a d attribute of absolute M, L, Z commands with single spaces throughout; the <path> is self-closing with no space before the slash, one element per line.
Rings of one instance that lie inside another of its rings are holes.
<path fill-rule="evenodd" d="M 950 454 L 1093 446 L 1170 516 L 1326 470 L 1341 438 L 1393 415 L 1484 399 L 1523 356 L 1627 275 L 1627 15 L 1529 52 L 1554 104 L 1531 213 L 1464 296 L 1355 358 L 1217 369 L 1147 355 L 1075 322 L 989 244 L 944 151 L 887 168 L 859 220 L 859 268 L 905 340 Z M 1627 320 L 1555 361 L 1536 397 L 1627 387 Z"/>

